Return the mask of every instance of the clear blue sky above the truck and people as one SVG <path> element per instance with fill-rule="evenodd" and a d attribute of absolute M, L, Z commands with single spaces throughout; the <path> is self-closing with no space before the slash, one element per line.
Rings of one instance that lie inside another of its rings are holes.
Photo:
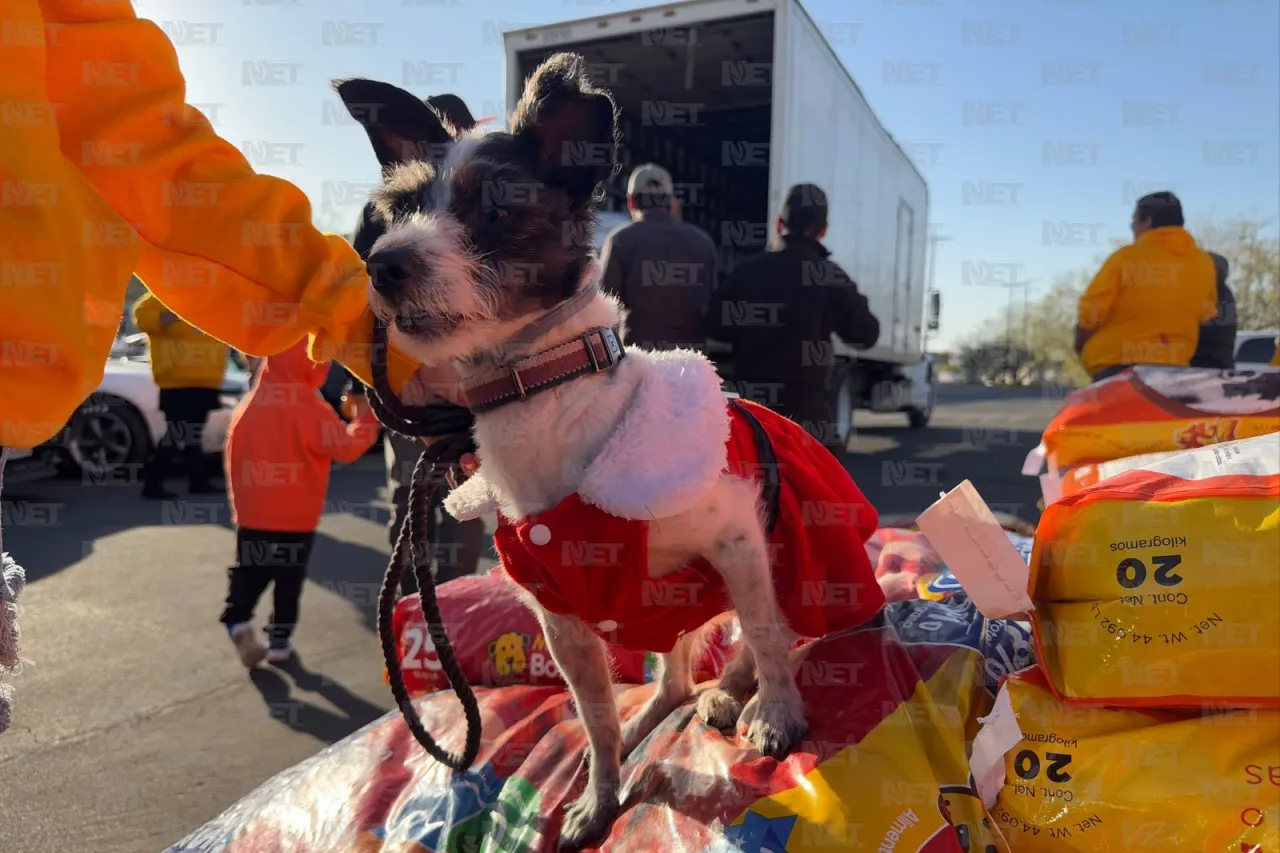
<path fill-rule="evenodd" d="M 404 63 L 431 63 L 430 81 L 410 86 L 416 93 L 453 91 L 476 115 L 498 114 L 503 29 L 655 4 L 134 5 L 174 38 L 188 101 L 259 169 L 301 186 L 317 224 L 347 232 L 378 165 L 364 133 L 332 122 L 340 110 L 332 78 L 403 83 Z M 1280 218 L 1275 0 L 804 5 L 929 183 L 933 233 L 943 238 L 934 272 L 943 321 L 933 346 L 1002 315 L 1001 282 L 1032 282 L 1034 298 L 1055 277 L 1092 266 L 1128 237 L 1142 192 L 1174 190 L 1192 223 Z M 334 45 L 335 33 L 346 44 Z"/>

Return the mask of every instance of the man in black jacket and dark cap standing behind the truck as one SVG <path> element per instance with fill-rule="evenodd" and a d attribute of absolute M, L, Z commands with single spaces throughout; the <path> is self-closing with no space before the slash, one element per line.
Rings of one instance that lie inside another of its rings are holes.
<path fill-rule="evenodd" d="M 827 196 L 812 183 L 791 187 L 777 219 L 777 243 L 727 277 L 707 311 L 707 337 L 733 347 L 733 384 L 840 448 L 828 400 L 832 333 L 868 348 L 879 320 L 858 284 L 831 260 Z"/>

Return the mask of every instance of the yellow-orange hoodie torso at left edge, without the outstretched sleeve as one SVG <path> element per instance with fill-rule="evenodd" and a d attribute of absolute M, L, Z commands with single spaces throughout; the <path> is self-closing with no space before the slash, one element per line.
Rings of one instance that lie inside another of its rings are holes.
<path fill-rule="evenodd" d="M 0 3 L 0 444 L 55 435 L 102 382 L 140 248 L 59 150 L 36 0 Z M 91 242 L 92 241 L 92 242 Z M 87 245 L 90 243 L 91 245 Z"/>

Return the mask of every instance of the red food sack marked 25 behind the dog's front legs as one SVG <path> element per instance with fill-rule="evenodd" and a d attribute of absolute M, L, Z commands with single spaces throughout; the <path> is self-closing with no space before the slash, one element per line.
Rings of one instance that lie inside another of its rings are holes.
<path fill-rule="evenodd" d="M 509 684 L 563 684 L 556 662 L 547 649 L 541 626 L 532 611 L 515 594 L 509 583 L 497 574 L 457 578 L 435 590 L 453 652 L 462 665 L 467 683 L 504 686 Z M 422 602 L 417 594 L 396 603 L 392 633 L 399 653 L 404 688 L 410 695 L 448 689 L 449 680 L 440 669 L 440 658 L 422 620 Z M 726 660 L 741 642 L 737 622 L 731 617 L 717 620 L 708 629 L 708 639 L 695 661 L 695 675 L 701 680 L 719 678 Z M 649 680 L 652 662 L 646 656 L 626 648 L 611 647 L 614 679 L 623 684 Z"/>

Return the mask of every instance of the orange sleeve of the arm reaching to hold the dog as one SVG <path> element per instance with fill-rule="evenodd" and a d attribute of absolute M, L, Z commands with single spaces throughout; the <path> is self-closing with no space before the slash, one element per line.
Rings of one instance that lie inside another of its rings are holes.
<path fill-rule="evenodd" d="M 136 229 L 147 287 L 251 355 L 311 333 L 315 360 L 335 359 L 367 383 L 372 315 L 356 251 L 312 227 L 301 190 L 256 174 L 186 104 L 173 45 L 128 0 L 42 8 L 58 32 L 47 79 L 49 99 L 63 105 L 61 151 Z M 393 353 L 393 387 L 415 368 Z"/>

